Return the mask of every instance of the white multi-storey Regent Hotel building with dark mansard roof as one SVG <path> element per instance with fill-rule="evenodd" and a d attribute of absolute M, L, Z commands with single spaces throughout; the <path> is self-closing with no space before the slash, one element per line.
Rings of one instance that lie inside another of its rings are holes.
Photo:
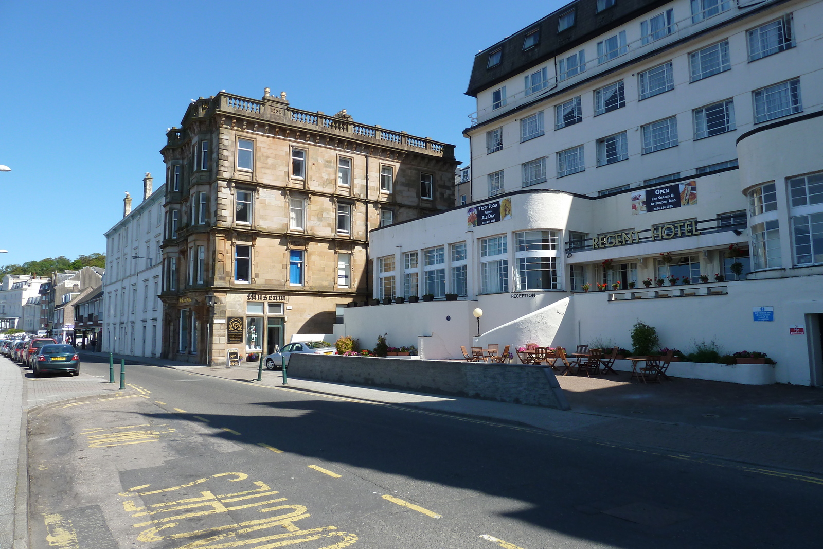
<path fill-rule="evenodd" d="M 820 1 L 579 0 L 481 51 L 467 204 L 370 235 L 374 297 L 435 303 L 346 309 L 338 333 L 446 358 L 630 348 L 641 319 L 823 385 L 821 22 Z"/>

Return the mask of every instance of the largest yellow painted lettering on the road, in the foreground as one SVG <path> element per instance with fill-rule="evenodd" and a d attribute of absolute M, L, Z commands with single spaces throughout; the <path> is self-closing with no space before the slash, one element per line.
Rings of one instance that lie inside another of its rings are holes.
<path fill-rule="evenodd" d="M 145 491 L 151 485 L 134 486 L 120 495 L 143 498 L 147 495 L 179 491 L 207 481 L 240 482 L 247 478 L 248 475 L 242 472 L 223 472 L 187 484 L 156 490 Z M 301 529 L 295 523 L 300 519 L 311 516 L 305 505 L 282 504 L 281 502 L 286 501 L 286 498 L 272 498 L 271 496 L 277 495 L 278 491 L 272 490 L 265 482 L 254 481 L 252 484 L 255 487 L 249 490 L 233 491 L 225 494 L 216 494 L 217 490 L 210 485 L 208 487 L 211 487 L 212 490 L 198 491 L 199 495 L 194 497 L 184 497 L 176 501 L 160 501 L 149 505 L 142 505 L 141 500 L 127 500 L 123 501 L 123 509 L 132 514 L 134 518 L 149 519 L 133 525 L 134 528 L 144 528 L 137 535 L 137 541 L 161 542 L 164 540 L 186 540 L 188 538 L 189 541 L 186 545 L 179 547 L 179 549 L 229 549 L 230 547 L 247 546 L 252 546 L 249 549 L 253 547 L 273 549 L 274 547 L 287 547 L 297 543 L 323 540 L 323 538 L 332 538 L 332 541 L 337 539 L 337 541 L 333 542 L 332 545 L 324 544 L 322 549 L 342 549 L 342 547 L 349 547 L 357 542 L 358 537 L 356 534 L 341 532 L 336 526 Z M 247 509 L 246 512 L 251 511 L 269 515 L 261 519 L 238 522 L 236 520 L 238 514 L 230 514 L 230 512 L 240 509 Z M 185 527 L 181 528 L 180 525 L 187 519 L 195 519 L 198 525 L 202 525 L 202 517 L 205 515 L 214 515 L 212 520 L 218 521 L 218 523 L 211 528 L 201 528 L 193 532 L 179 531 L 185 529 Z M 227 523 L 219 523 L 221 519 Z M 278 526 L 285 528 L 286 532 L 267 533 L 262 537 L 249 537 L 249 533 Z M 311 547 L 316 546 L 312 545 Z"/>

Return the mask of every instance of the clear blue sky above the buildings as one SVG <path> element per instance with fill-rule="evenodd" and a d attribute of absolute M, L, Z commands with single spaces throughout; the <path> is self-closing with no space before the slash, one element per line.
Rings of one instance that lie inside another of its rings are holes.
<path fill-rule="evenodd" d="M 189 100 L 298 109 L 457 145 L 480 49 L 565 2 L 0 2 L 0 264 L 105 251 Z M 493 16 L 491 14 L 494 14 Z"/>

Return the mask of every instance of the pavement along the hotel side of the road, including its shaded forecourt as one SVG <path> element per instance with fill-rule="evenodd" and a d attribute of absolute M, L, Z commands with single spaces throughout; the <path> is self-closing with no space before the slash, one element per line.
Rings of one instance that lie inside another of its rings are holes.
<path fill-rule="evenodd" d="M 102 357 L 101 357 L 102 358 Z M 224 379 L 257 378 L 256 363 L 210 368 L 146 361 Z M 108 357 L 105 357 L 108 361 Z M 559 376 L 572 411 L 474 398 L 288 378 L 288 387 L 414 407 L 431 412 L 518 422 L 542 430 L 610 444 L 666 449 L 786 471 L 823 474 L 823 390 L 792 385 L 749 386 L 700 379 L 663 384 Z M 263 370 L 265 386 L 280 386 L 280 371 Z"/>

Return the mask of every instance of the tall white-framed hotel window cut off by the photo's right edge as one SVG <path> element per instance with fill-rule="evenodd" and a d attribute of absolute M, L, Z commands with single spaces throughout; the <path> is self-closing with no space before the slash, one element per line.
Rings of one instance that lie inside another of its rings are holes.
<path fill-rule="evenodd" d="M 823 172 L 788 179 L 794 264 L 823 263 Z"/>

